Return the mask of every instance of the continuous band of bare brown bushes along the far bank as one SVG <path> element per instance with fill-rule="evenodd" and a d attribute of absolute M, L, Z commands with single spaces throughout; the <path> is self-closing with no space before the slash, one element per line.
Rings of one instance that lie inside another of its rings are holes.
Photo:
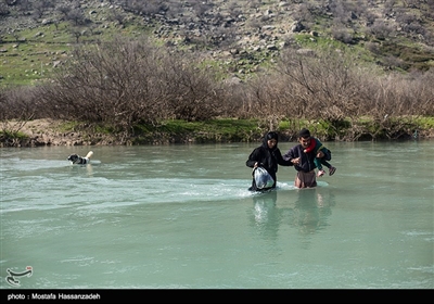
<path fill-rule="evenodd" d="M 434 71 L 382 75 L 333 49 L 288 50 L 276 69 L 246 81 L 219 81 L 199 63 L 146 39 L 80 46 L 49 83 L 0 92 L 0 118 L 103 124 L 124 135 L 166 119 L 257 118 L 269 129 L 308 121 L 327 129 L 327 139 L 356 140 L 398 138 L 417 129 L 421 115 L 434 116 Z"/>

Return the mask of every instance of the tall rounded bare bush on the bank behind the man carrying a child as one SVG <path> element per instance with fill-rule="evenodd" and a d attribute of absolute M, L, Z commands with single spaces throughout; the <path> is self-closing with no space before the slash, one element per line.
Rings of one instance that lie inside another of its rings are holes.
<path fill-rule="evenodd" d="M 276 98 L 283 99 L 279 104 L 289 117 L 314 119 L 339 137 L 346 121 L 363 114 L 366 74 L 343 51 L 312 55 L 288 50 L 277 71 Z"/>

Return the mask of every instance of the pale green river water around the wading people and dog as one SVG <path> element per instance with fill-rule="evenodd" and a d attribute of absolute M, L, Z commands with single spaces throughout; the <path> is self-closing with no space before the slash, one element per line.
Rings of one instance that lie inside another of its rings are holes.
<path fill-rule="evenodd" d="M 1 149 L 0 288 L 434 288 L 432 141 L 330 142 L 334 176 L 260 194 L 256 145 Z"/>

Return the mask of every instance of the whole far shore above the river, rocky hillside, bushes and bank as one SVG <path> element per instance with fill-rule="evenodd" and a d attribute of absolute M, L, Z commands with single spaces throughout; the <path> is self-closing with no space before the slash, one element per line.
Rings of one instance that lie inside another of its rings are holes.
<path fill-rule="evenodd" d="M 4 1 L 0 144 L 432 138 L 432 1 L 332 2 Z"/>

